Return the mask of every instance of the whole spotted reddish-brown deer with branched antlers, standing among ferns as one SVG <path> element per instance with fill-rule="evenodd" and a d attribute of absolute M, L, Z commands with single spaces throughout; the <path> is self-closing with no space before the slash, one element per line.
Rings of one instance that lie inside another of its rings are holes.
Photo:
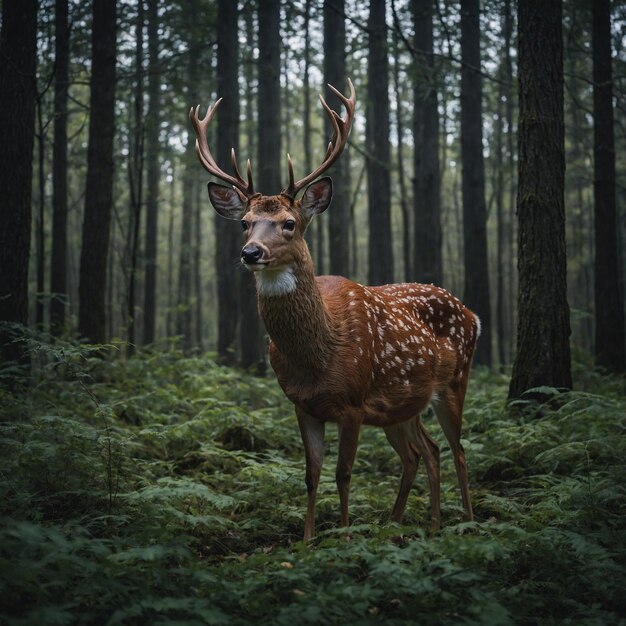
<path fill-rule="evenodd" d="M 329 85 L 342 117 L 320 95 L 332 137 L 319 167 L 289 182 L 278 195 L 255 191 L 250 160 L 241 176 L 222 170 L 207 142 L 207 127 L 221 103 L 204 117 L 191 108 L 202 166 L 228 184 L 208 183 L 213 208 L 238 220 L 245 238 L 241 264 L 256 280 L 257 305 L 269 335 L 269 359 L 278 384 L 295 406 L 305 455 L 307 506 L 304 540 L 315 536 L 315 502 L 324 459 L 325 426 L 338 426 L 336 484 L 340 518 L 349 526 L 348 497 L 362 426 L 381 427 L 400 457 L 402 475 L 391 519 L 402 523 L 420 458 L 430 492 L 431 530 L 440 528 L 439 447 L 421 414 L 431 405 L 450 445 L 468 520 L 473 519 L 465 451 L 463 403 L 480 320 L 448 291 L 432 284 L 365 286 L 341 276 L 315 276 L 305 231 L 331 203 L 332 180 L 322 176 L 342 154 L 356 109 L 354 85 L 345 96 Z M 303 192 L 300 197 L 298 195 Z M 375 262 L 375 259 L 371 259 Z"/>

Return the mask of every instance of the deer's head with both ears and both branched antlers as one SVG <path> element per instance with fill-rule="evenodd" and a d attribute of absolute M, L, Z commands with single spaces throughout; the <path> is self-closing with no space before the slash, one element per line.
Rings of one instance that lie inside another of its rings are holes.
<path fill-rule="evenodd" d="M 254 190 L 250 161 L 247 163 L 247 180 L 243 179 L 234 150 L 231 152 L 233 175 L 224 172 L 215 162 L 207 143 L 206 130 L 221 99 L 209 107 L 203 119 L 198 115 L 199 107 L 189 111 L 189 119 L 196 132 L 196 152 L 200 162 L 210 174 L 230 185 L 226 187 L 210 182 L 209 198 L 222 217 L 241 222 L 246 237 L 241 250 L 241 262 L 247 269 L 255 272 L 282 271 L 292 268 L 302 259 L 306 250 L 304 232 L 313 216 L 323 213 L 332 199 L 331 179 L 327 176 L 318 177 L 343 152 L 354 119 L 356 95 L 349 79 L 348 83 L 349 97 L 329 85 L 346 109 L 343 118 L 320 96 L 333 126 L 333 135 L 322 164 L 296 181 L 291 158 L 287 155 L 289 184 L 275 196 L 262 195 Z M 303 189 L 304 193 L 297 198 Z"/>

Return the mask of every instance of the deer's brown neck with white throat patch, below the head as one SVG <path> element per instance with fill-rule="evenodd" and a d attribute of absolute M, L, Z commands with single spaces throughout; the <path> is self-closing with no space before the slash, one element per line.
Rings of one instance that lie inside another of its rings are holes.
<path fill-rule="evenodd" d="M 306 251 L 293 267 L 256 275 L 259 313 L 276 349 L 294 370 L 326 369 L 336 338 Z"/>

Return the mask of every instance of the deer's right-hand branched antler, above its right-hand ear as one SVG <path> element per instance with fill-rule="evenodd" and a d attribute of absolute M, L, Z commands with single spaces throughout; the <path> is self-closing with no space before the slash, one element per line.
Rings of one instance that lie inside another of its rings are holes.
<path fill-rule="evenodd" d="M 287 185 L 287 188 L 281 192 L 283 195 L 289 198 L 295 198 L 297 193 L 305 185 L 315 180 L 318 176 L 325 172 L 339 158 L 344 148 L 346 147 L 348 135 L 350 134 L 350 128 L 352 127 L 352 121 L 354 120 L 354 111 L 356 108 L 356 93 L 354 91 L 354 85 L 352 84 L 352 81 L 350 79 L 348 79 L 348 85 L 350 86 L 350 96 L 345 96 L 339 90 L 335 89 L 335 87 L 333 87 L 332 85 L 328 85 L 331 91 L 339 98 L 341 104 L 346 109 L 346 115 L 343 118 L 336 111 L 333 111 L 328 106 L 328 103 L 326 102 L 324 97 L 320 95 L 322 108 L 324 109 L 324 111 L 326 111 L 326 114 L 328 115 L 330 123 L 333 127 L 333 134 L 330 143 L 328 144 L 328 148 L 326 149 L 324 160 L 317 169 L 313 170 L 310 174 L 295 182 L 293 176 L 293 164 L 291 162 L 291 158 L 288 157 L 289 184 Z"/>

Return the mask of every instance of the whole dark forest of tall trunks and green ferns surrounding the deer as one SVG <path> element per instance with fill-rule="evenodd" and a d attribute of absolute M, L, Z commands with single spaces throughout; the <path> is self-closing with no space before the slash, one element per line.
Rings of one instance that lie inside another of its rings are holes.
<path fill-rule="evenodd" d="M 626 3 L 0 10 L 0 623 L 626 623 Z M 207 167 L 190 119 L 220 98 Z M 315 274 L 479 317 L 473 518 L 433 392 L 441 528 L 428 455 L 398 521 L 405 459 L 365 426 L 346 530 L 342 423 L 308 532 L 297 368 L 270 365 L 250 225 L 205 191 L 239 168 L 252 206 L 247 163 L 261 199 L 332 179 L 294 236 Z"/>

